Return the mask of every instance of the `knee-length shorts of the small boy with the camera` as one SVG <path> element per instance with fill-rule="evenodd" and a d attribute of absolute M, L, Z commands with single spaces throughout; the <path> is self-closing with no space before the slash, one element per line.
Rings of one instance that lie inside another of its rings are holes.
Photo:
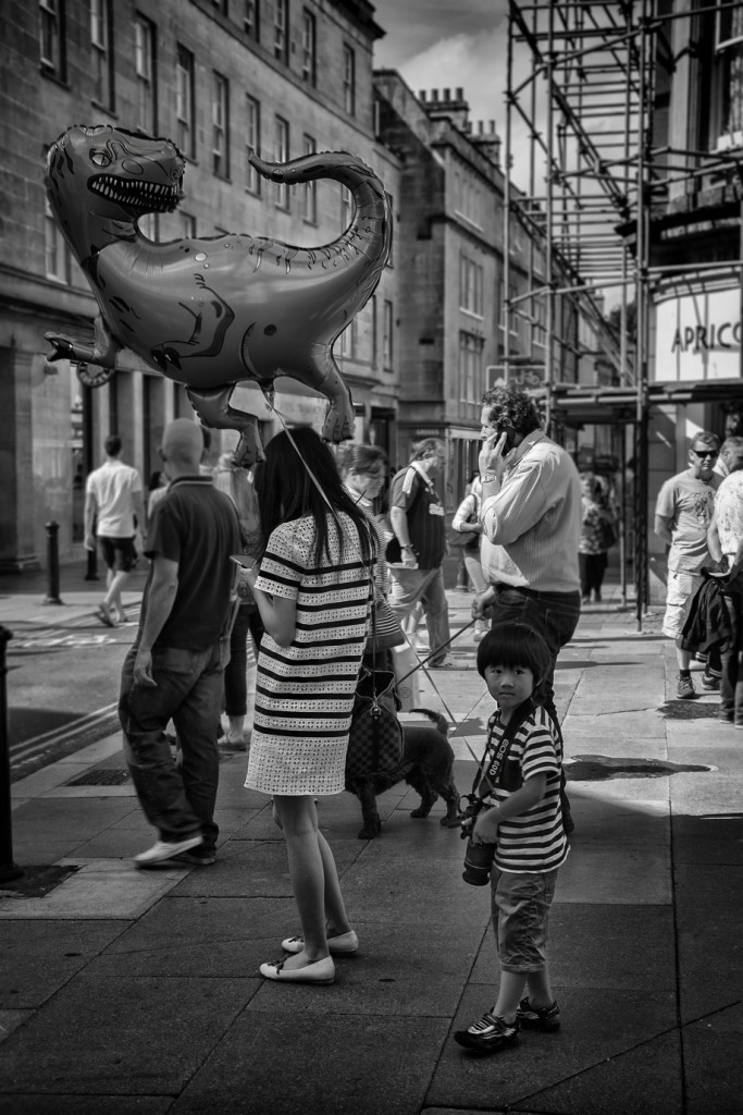
<path fill-rule="evenodd" d="M 493 869 L 492 929 L 505 972 L 538 972 L 547 967 L 549 908 L 556 883 L 557 867 L 538 874 Z"/>

